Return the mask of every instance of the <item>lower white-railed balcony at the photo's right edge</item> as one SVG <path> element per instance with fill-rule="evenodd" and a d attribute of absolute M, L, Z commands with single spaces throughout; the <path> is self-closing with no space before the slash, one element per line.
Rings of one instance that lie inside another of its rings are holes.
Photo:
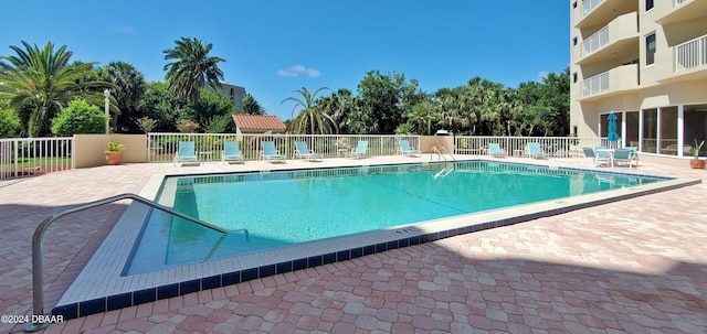
<path fill-rule="evenodd" d="M 678 44 L 668 52 L 669 55 L 661 56 L 666 57 L 665 64 L 672 68 L 661 67 L 661 83 L 707 78 L 707 35 Z"/>

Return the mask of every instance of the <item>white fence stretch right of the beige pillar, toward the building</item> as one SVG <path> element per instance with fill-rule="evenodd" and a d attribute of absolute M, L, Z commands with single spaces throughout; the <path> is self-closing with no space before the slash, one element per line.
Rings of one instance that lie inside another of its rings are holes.
<path fill-rule="evenodd" d="M 454 139 L 455 154 L 486 155 L 489 143 L 498 143 L 509 157 L 526 157 L 526 146 L 539 142 L 548 157 L 574 158 L 583 157 L 582 148 L 602 146 L 597 137 L 456 137 Z"/>

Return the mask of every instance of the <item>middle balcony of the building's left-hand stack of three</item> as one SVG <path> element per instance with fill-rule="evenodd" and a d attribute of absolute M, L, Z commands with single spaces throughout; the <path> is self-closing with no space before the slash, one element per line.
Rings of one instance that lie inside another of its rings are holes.
<path fill-rule="evenodd" d="M 623 14 L 582 42 L 581 58 L 577 63 L 579 65 L 605 63 L 618 55 L 637 56 L 639 41 L 636 12 Z"/>

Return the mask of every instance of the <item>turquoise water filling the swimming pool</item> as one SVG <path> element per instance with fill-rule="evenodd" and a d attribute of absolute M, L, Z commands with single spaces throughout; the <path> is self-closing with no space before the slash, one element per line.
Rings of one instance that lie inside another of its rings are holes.
<path fill-rule="evenodd" d="M 160 202 L 234 231 L 152 212 L 125 273 L 659 180 L 486 161 L 168 177 Z"/>

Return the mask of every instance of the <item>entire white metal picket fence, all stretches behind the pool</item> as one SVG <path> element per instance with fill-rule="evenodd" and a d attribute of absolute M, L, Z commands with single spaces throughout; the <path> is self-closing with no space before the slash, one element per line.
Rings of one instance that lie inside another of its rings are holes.
<path fill-rule="evenodd" d="M 180 141 L 193 141 L 200 161 L 221 161 L 223 142 L 236 140 L 245 160 L 261 159 L 261 143 L 274 141 L 286 159 L 294 158 L 295 141 L 324 158 L 348 155 L 359 140 L 368 141 L 367 154 L 399 154 L 399 141 L 407 139 L 420 148 L 419 136 L 368 134 L 242 134 L 234 133 L 149 133 L 148 162 L 171 162 Z M 608 146 L 605 139 L 578 137 L 476 137 L 454 138 L 454 154 L 487 154 L 489 143 L 498 143 L 510 157 L 525 157 L 526 146 L 538 142 L 548 157 L 583 157 L 582 147 Z M 72 165 L 71 137 L 0 139 L 0 181 L 70 170 Z"/>

